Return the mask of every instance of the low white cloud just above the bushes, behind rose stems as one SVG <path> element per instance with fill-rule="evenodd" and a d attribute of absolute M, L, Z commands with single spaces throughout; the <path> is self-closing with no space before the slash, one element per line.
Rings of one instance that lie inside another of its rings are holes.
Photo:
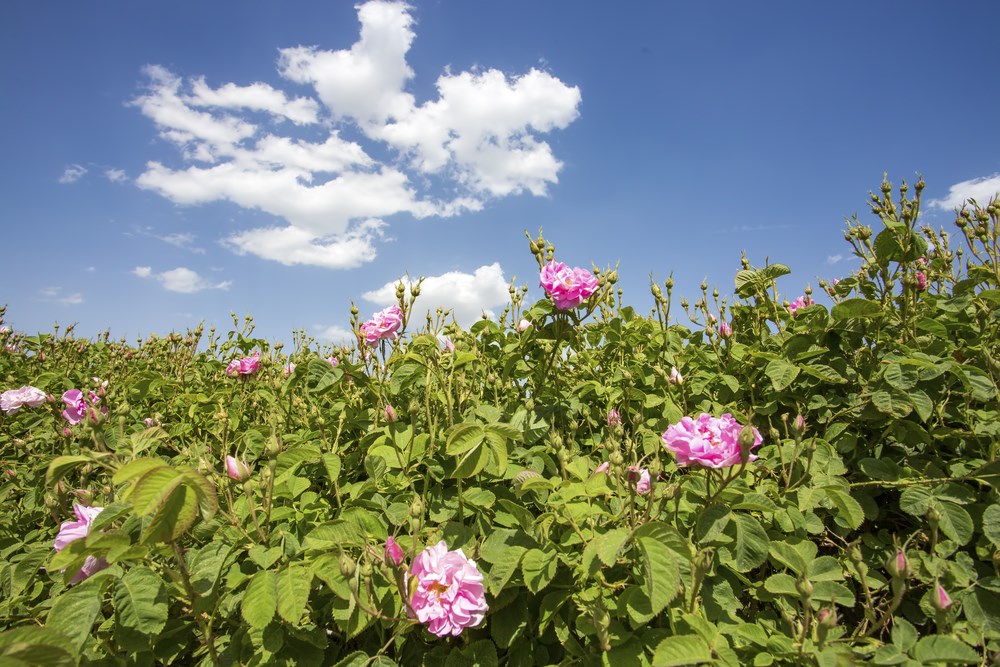
<path fill-rule="evenodd" d="M 362 296 L 379 306 L 392 305 L 397 302 L 396 285 L 400 280 L 407 287 L 416 282 L 403 277 L 388 282 L 377 290 L 365 292 Z M 486 313 L 487 317 L 494 317 L 493 309 L 502 308 L 510 301 L 508 287 L 503 277 L 503 269 L 498 263 L 481 266 L 471 274 L 450 271 L 424 280 L 415 307 L 421 314 L 434 311 L 438 307 L 452 310 L 458 323 L 467 327 L 481 319 L 483 313 Z M 420 325 L 422 317 L 418 317 L 415 321 Z"/>

